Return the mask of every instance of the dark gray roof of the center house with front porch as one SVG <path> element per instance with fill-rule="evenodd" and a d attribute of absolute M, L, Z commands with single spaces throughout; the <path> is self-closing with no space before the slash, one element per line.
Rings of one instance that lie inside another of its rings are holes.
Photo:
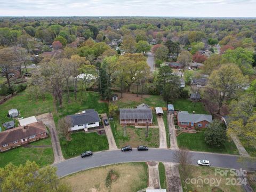
<path fill-rule="evenodd" d="M 151 109 L 120 109 L 119 119 L 153 119 Z"/>

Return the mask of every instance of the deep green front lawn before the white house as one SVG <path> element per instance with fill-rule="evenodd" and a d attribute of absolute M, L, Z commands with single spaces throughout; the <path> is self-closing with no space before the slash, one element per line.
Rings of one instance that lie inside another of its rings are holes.
<path fill-rule="evenodd" d="M 60 138 L 60 145 L 64 158 L 80 155 L 86 150 L 101 151 L 108 150 L 108 140 L 106 135 L 97 133 L 77 132 L 71 134 L 71 141 Z"/>

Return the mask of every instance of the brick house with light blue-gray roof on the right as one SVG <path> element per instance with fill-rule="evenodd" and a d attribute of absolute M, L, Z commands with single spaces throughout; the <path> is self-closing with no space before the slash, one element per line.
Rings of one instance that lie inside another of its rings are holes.
<path fill-rule="evenodd" d="M 188 111 L 180 111 L 177 115 L 178 125 L 181 127 L 191 127 L 195 126 L 205 128 L 212 123 L 211 115 L 204 114 L 189 114 Z"/>

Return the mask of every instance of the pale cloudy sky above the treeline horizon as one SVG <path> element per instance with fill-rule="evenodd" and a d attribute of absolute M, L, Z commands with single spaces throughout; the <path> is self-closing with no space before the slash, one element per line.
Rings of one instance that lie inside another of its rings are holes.
<path fill-rule="evenodd" d="M 0 15 L 256 17 L 256 0 L 0 0 Z"/>

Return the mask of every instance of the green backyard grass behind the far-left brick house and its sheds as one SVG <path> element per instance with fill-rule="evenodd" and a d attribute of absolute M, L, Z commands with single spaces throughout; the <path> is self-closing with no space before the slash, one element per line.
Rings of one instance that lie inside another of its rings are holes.
<path fill-rule="evenodd" d="M 11 120 L 7 117 L 7 114 L 12 108 L 17 108 L 18 111 L 20 111 L 20 116 L 24 118 L 52 111 L 53 98 L 51 94 L 46 94 L 45 100 L 30 100 L 26 94 L 26 91 L 23 91 L 15 95 L 15 97 L 7 100 L 0 106 L 0 124 L 2 125 L 2 123 Z"/>

